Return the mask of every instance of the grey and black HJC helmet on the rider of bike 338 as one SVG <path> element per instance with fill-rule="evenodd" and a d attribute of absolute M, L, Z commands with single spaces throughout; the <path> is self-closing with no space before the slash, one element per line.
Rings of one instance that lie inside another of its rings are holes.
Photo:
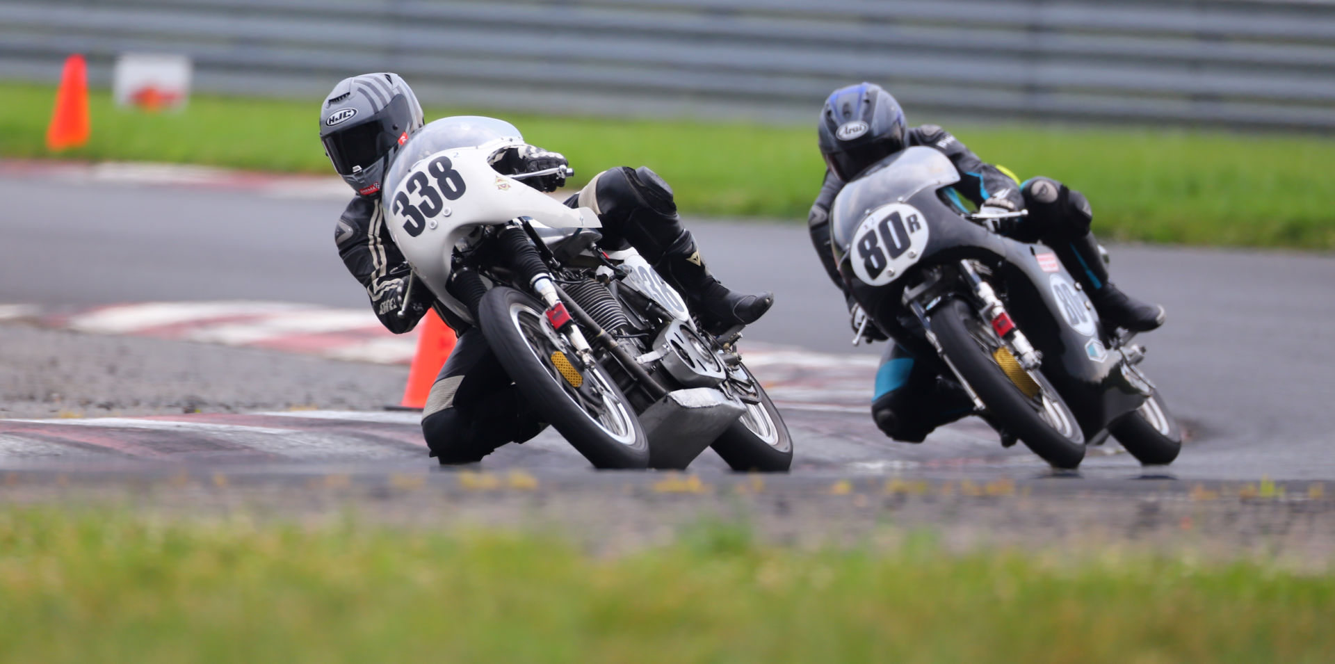
<path fill-rule="evenodd" d="M 343 180 L 370 196 L 422 120 L 422 104 L 398 73 L 363 73 L 340 80 L 324 98 L 320 142 Z"/>

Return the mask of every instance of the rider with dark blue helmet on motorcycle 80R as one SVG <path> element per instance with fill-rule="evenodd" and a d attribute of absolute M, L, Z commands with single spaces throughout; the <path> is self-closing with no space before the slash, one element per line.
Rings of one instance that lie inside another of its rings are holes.
<path fill-rule="evenodd" d="M 961 180 L 947 194 L 961 210 L 961 196 L 979 206 L 980 212 L 1028 210 L 1028 216 L 995 222 L 992 230 L 1021 242 L 1041 240 L 1051 246 L 1067 270 L 1080 279 L 1104 321 L 1133 331 L 1163 325 L 1163 307 L 1139 302 L 1108 281 L 1099 243 L 1089 232 L 1093 214 L 1079 191 L 1051 178 L 1019 183 L 1001 168 L 980 160 L 936 124 L 908 128 L 894 98 L 870 83 L 836 90 L 821 110 L 818 135 L 826 163 L 825 183 L 808 223 L 825 271 L 849 303 L 854 330 L 860 329 L 865 314 L 853 301 L 834 263 L 829 211 L 845 182 L 910 146 L 926 146 L 951 159 Z M 874 323 L 868 322 L 861 329 L 865 338 L 886 339 Z M 892 342 L 876 373 L 872 401 L 876 425 L 894 440 L 921 442 L 937 426 L 969 414 L 972 401 L 949 375 L 939 358 L 914 357 Z"/>

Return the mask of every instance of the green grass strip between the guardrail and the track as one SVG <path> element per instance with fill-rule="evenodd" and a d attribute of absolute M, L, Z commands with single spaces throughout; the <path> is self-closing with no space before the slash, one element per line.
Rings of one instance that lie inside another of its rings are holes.
<path fill-rule="evenodd" d="M 49 156 L 55 90 L 0 84 L 0 155 Z M 180 115 L 127 112 L 92 95 L 91 143 L 64 156 L 328 172 L 316 102 L 196 95 Z M 427 108 L 430 118 L 477 110 Z M 649 164 L 697 215 L 806 216 L 822 174 L 813 127 L 497 114 L 565 152 L 582 178 Z M 814 115 L 814 108 L 813 108 Z M 930 118 L 910 116 L 913 122 Z M 1184 130 L 952 126 L 983 159 L 1021 178 L 1049 175 L 1093 202 L 1116 239 L 1335 248 L 1330 182 L 1335 139 Z"/>

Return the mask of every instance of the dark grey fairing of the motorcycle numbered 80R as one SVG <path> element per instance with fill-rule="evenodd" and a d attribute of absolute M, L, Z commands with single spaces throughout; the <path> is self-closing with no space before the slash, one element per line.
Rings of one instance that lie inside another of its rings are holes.
<path fill-rule="evenodd" d="M 1087 436 L 1145 398 L 1127 375 L 1111 333 L 1056 254 L 965 219 L 943 195 L 960 180 L 951 160 L 928 147 L 905 148 L 848 183 L 830 211 L 840 274 L 868 315 L 910 351 L 934 353 L 902 302 L 936 266 L 973 259 L 1009 293 L 1007 309 L 1041 349 L 1041 370 Z M 936 303 L 928 298 L 925 305 Z"/>

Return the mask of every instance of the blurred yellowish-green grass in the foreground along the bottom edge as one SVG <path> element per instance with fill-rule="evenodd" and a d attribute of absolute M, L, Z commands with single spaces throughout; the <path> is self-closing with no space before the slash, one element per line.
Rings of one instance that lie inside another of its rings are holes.
<path fill-rule="evenodd" d="M 1324 663 L 1335 574 L 0 509 L 0 661 Z"/>

